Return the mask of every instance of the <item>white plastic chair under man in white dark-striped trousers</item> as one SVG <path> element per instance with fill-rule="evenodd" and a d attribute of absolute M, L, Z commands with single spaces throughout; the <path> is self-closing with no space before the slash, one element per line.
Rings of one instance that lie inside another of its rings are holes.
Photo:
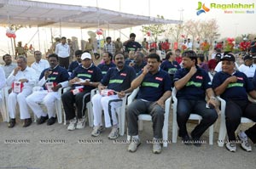
<path fill-rule="evenodd" d="M 96 89 L 94 89 L 94 90 L 96 90 Z M 93 93 L 90 93 L 90 99 L 92 99 L 92 97 L 96 93 L 98 93 L 98 90 L 93 91 Z M 125 108 L 126 108 L 126 100 L 127 100 L 128 95 L 130 95 L 130 93 L 126 93 L 125 97 L 122 98 L 122 106 L 115 109 L 116 114 L 118 115 L 118 118 L 119 118 L 119 135 L 120 136 L 123 136 L 125 134 Z M 90 102 L 90 104 L 91 104 L 91 102 Z M 93 105 L 91 104 L 91 106 L 93 106 Z M 88 112 L 88 115 L 90 116 L 90 118 L 89 118 L 89 121 L 91 124 L 90 127 L 93 127 L 92 107 L 91 107 L 91 110 Z"/>

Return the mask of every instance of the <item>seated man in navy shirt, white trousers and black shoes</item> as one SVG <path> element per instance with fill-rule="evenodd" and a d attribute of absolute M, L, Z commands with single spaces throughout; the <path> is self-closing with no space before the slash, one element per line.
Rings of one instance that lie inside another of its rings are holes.
<path fill-rule="evenodd" d="M 38 86 L 44 87 L 43 91 L 35 91 L 26 98 L 26 103 L 38 117 L 38 124 L 47 121 L 47 125 L 52 125 L 56 121 L 55 117 L 55 100 L 61 99 L 58 93 L 60 87 L 67 87 L 68 73 L 67 70 L 59 65 L 59 58 L 56 54 L 49 54 L 49 68 L 42 71 Z M 38 104 L 44 103 L 47 113 Z"/>

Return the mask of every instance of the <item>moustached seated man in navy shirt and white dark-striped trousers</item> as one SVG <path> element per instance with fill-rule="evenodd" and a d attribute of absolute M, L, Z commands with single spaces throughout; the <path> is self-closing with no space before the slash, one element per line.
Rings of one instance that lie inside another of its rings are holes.
<path fill-rule="evenodd" d="M 119 121 L 117 121 L 115 109 L 122 105 L 122 99 L 125 93 L 131 93 L 131 81 L 135 78 L 135 70 L 125 65 L 125 56 L 116 54 L 113 58 L 116 67 L 108 70 L 106 76 L 102 79 L 98 88 L 100 93 L 103 89 L 113 90 L 114 95 L 102 96 L 96 94 L 91 102 L 93 104 L 94 129 L 91 136 L 99 136 L 103 130 L 102 110 L 104 111 L 105 127 L 112 127 L 108 138 L 115 139 L 119 137 Z"/>

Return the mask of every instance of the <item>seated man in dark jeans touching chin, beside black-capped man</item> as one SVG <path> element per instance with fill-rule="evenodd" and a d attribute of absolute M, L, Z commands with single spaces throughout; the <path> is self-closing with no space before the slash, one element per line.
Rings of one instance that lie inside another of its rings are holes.
<path fill-rule="evenodd" d="M 216 99 L 212 91 L 212 83 L 206 70 L 197 65 L 197 57 L 193 50 L 185 51 L 182 54 L 183 68 L 177 70 L 173 77 L 174 87 L 177 89 L 177 126 L 178 136 L 184 144 L 194 143 L 201 145 L 201 135 L 208 127 L 217 120 L 218 114 L 213 107 L 216 106 Z M 208 101 L 206 101 L 206 94 Z M 207 105 L 210 108 L 207 108 Z M 191 132 L 191 138 L 187 131 L 189 115 L 196 113 L 201 115 L 202 120 Z"/>

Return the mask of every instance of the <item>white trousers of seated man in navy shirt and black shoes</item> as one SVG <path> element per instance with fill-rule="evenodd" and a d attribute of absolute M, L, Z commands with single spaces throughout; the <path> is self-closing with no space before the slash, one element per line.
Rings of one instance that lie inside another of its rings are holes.
<path fill-rule="evenodd" d="M 32 109 L 33 113 L 37 115 L 38 118 L 40 116 L 46 116 L 48 114 L 50 117 L 55 117 L 55 100 L 61 99 L 61 96 L 58 92 L 51 93 L 43 93 L 43 92 L 35 92 L 26 98 L 26 103 Z M 39 105 L 43 102 L 47 109 L 47 113 L 44 112 L 42 107 Z"/>

